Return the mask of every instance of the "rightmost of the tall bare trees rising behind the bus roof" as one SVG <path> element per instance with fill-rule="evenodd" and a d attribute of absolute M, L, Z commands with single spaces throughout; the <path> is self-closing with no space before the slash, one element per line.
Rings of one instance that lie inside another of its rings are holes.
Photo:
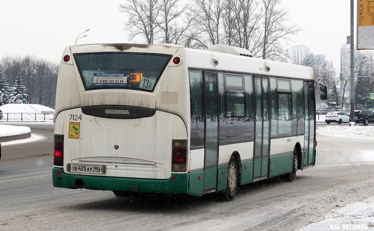
<path fill-rule="evenodd" d="M 261 0 L 263 4 L 263 41 L 262 41 L 262 58 L 271 60 L 286 61 L 289 57 L 289 51 L 285 49 L 281 42 L 288 45 L 292 35 L 298 33 L 301 28 L 296 25 L 287 25 L 289 22 L 288 11 L 278 9 L 282 0 Z M 258 53 L 258 52 L 255 52 Z"/>

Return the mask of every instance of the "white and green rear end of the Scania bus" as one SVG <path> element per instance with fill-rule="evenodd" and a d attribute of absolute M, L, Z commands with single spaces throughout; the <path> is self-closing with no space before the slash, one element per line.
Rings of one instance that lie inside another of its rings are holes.
<path fill-rule="evenodd" d="M 56 91 L 53 185 L 188 193 L 183 49 L 67 47 Z M 182 116 L 181 116 L 182 115 Z"/>

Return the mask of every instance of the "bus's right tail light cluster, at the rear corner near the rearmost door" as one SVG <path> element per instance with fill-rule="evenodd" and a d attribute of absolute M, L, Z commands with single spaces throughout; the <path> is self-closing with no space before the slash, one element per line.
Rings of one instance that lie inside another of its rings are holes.
<path fill-rule="evenodd" d="M 172 141 L 172 171 L 187 171 L 187 140 Z"/>

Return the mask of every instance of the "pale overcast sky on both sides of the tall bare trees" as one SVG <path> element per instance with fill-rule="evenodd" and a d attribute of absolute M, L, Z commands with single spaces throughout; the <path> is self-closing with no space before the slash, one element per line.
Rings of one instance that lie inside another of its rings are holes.
<path fill-rule="evenodd" d="M 77 44 L 127 43 L 125 15 L 118 11 L 124 2 L 0 0 L 0 58 L 34 54 L 59 62 L 64 48 L 86 29 L 88 36 Z M 350 0 L 283 0 L 282 5 L 303 28 L 290 46 L 303 44 L 314 54 L 325 54 L 338 72 L 340 46 L 350 34 Z"/>

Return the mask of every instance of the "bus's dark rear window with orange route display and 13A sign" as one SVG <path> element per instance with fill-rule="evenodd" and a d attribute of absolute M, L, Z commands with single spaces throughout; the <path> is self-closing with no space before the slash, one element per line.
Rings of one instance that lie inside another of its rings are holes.
<path fill-rule="evenodd" d="M 74 54 L 86 90 L 124 88 L 153 91 L 171 57 L 130 52 Z"/>

